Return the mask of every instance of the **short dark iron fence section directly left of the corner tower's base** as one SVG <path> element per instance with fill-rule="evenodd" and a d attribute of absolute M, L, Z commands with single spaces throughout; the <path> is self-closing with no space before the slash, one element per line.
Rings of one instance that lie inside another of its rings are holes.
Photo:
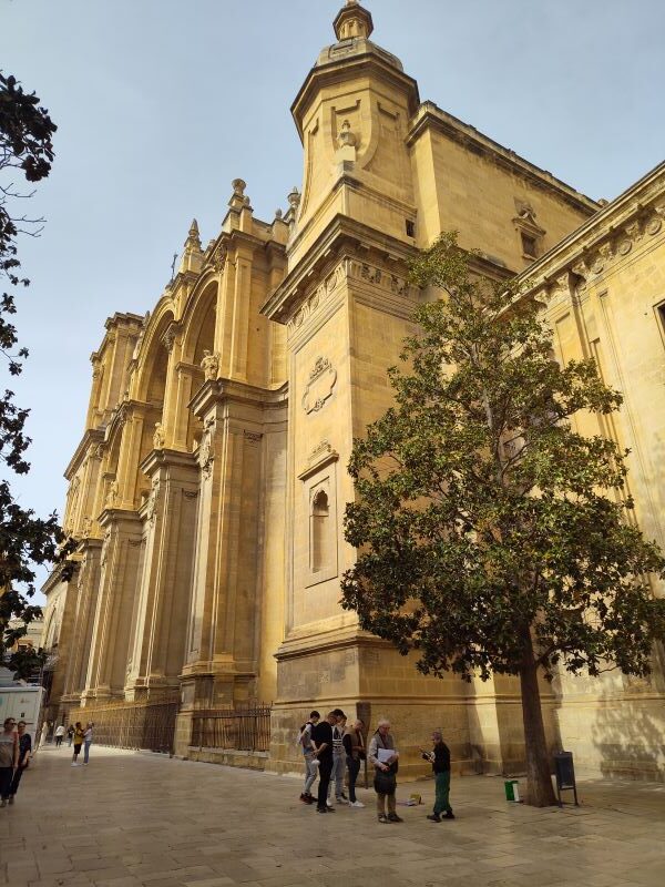
<path fill-rule="evenodd" d="M 195 712 L 192 745 L 200 750 L 267 752 L 270 746 L 270 706 Z"/>

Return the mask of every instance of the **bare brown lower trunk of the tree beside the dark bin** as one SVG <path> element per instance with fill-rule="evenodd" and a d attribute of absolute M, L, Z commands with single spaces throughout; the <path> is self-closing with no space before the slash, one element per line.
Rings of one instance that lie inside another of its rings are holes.
<path fill-rule="evenodd" d="M 538 685 L 538 666 L 526 665 L 520 672 L 522 689 L 522 718 L 524 721 L 524 745 L 526 753 L 526 804 L 532 807 L 549 807 L 556 804 L 550 755 L 545 742 L 545 727 Z"/>

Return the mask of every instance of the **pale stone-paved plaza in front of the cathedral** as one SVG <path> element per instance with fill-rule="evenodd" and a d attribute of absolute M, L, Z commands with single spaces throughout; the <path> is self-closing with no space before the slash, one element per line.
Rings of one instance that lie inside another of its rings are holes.
<path fill-rule="evenodd" d="M 13 887 L 521 887 L 665 884 L 665 785 L 584 782 L 582 806 L 508 804 L 500 778 L 453 781 L 458 818 L 434 824 L 430 781 L 402 784 L 426 806 L 402 825 L 366 809 L 321 816 L 299 781 L 93 746 L 40 752 L 0 810 L 0 884 Z"/>

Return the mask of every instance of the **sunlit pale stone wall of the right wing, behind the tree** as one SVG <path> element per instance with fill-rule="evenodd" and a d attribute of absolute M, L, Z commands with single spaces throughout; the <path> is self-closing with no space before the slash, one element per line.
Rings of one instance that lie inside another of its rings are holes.
<path fill-rule="evenodd" d="M 665 165 L 605 207 L 528 277 L 546 305 L 556 356 L 565 363 L 594 357 L 603 379 L 620 390 L 617 415 L 579 416 L 581 432 L 627 447 L 626 492 L 632 519 L 647 539 L 665 543 L 665 491 L 659 441 L 665 440 Z M 545 282 L 546 283 L 543 283 Z M 654 583 L 654 593 L 664 589 Z M 562 746 L 593 775 L 665 778 L 665 671 L 654 652 L 646 680 L 621 673 L 554 684 Z"/>

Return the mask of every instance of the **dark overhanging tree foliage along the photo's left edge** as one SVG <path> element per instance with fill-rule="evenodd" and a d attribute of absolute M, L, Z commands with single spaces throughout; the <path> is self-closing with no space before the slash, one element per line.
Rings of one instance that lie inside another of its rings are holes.
<path fill-rule="evenodd" d="M 22 213 L 13 214 L 17 202 L 31 193 L 16 190 L 12 177 L 23 176 L 27 182 L 39 182 L 49 175 L 53 160 L 52 135 L 55 125 L 48 111 L 41 108 L 34 93 L 23 91 L 13 77 L 0 72 L 0 278 L 8 286 L 0 297 L 0 354 L 8 360 L 9 374 L 21 373 L 28 349 L 17 349 L 18 333 L 10 322 L 16 314 L 14 290 L 28 286 L 19 276 L 17 239 L 19 234 L 39 234 L 41 220 L 30 220 Z M 25 450 L 30 438 L 24 432 L 29 410 L 14 402 L 14 395 L 6 390 L 0 397 L 0 459 L 16 473 L 30 469 Z M 30 622 L 40 614 L 39 606 L 30 605 L 34 594 L 34 564 L 53 561 L 57 557 L 59 528 L 55 514 L 47 520 L 35 517 L 31 509 L 21 508 L 14 500 L 9 481 L 0 480 L 0 653 L 11 646 L 24 628 L 9 629 L 11 619 Z M 21 662 L 10 661 L 10 665 Z"/>

